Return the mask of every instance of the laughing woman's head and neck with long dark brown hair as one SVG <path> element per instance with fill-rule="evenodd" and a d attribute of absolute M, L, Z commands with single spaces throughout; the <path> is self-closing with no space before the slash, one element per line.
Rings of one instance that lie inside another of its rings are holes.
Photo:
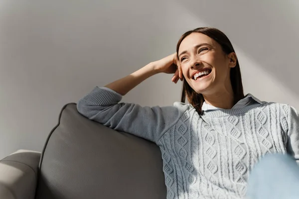
<path fill-rule="evenodd" d="M 187 96 L 200 113 L 204 101 L 228 109 L 244 98 L 239 62 L 223 32 L 208 27 L 188 31 L 179 39 L 176 52 L 184 75 L 182 102 Z M 210 74 L 195 80 L 194 74 L 203 70 Z"/>

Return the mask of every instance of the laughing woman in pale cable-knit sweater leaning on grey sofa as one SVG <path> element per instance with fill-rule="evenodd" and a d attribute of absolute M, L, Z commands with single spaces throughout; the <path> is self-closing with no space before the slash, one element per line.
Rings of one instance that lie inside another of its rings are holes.
<path fill-rule="evenodd" d="M 157 73 L 183 80 L 173 106 L 119 103 Z M 190 104 L 183 103 L 187 97 Z M 149 63 L 78 102 L 86 117 L 155 142 L 161 150 L 167 199 L 243 198 L 254 164 L 268 153 L 299 160 L 298 112 L 244 96 L 231 42 L 220 30 L 197 28 L 179 39 L 176 53 Z"/>

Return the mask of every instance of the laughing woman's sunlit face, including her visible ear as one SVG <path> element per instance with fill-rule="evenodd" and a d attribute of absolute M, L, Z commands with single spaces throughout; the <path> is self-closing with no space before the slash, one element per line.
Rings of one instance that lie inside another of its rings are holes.
<path fill-rule="evenodd" d="M 236 66 L 236 54 L 226 55 L 207 35 L 188 35 L 179 46 L 178 56 L 184 78 L 196 93 L 211 95 L 231 87 L 230 69 Z"/>

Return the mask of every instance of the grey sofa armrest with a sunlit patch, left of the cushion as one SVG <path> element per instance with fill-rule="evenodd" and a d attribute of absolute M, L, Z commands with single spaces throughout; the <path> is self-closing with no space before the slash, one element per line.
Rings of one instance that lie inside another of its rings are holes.
<path fill-rule="evenodd" d="M 18 150 L 0 161 L 0 199 L 34 199 L 40 153 Z"/>

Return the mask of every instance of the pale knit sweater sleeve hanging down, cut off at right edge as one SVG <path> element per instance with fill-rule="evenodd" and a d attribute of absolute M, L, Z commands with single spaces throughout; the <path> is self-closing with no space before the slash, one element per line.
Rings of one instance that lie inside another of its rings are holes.
<path fill-rule="evenodd" d="M 287 152 L 292 155 L 297 164 L 299 164 L 299 114 L 292 106 L 289 106 L 288 127 Z"/>

